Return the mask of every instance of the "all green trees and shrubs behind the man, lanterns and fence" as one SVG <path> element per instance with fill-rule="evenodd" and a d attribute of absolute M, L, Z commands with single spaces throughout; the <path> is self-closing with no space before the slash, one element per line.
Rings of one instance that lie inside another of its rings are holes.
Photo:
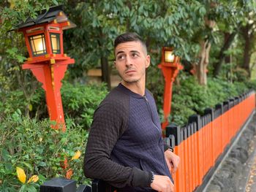
<path fill-rule="evenodd" d="M 64 31 L 65 53 L 75 58 L 61 88 L 66 133 L 50 129 L 45 93 L 31 72 L 21 69 L 29 57 L 23 36 L 10 31 L 20 20 L 36 18 L 41 9 L 58 4 L 64 5 L 64 12 L 77 24 L 77 28 Z M 90 85 L 86 72 L 105 66 L 108 74 L 115 73 L 113 39 L 125 31 L 135 31 L 146 40 L 151 55 L 146 86 L 156 98 L 161 119 L 164 80 L 157 64 L 162 46 L 174 47 L 184 65 L 173 85 L 169 117 L 180 126 L 187 123 L 189 115 L 203 114 L 206 107 L 255 89 L 256 82 L 250 80 L 255 78 L 255 13 L 254 0 L 1 1 L 1 190 L 37 190 L 50 177 L 65 175 L 67 170 L 59 165 L 64 156 L 70 161 L 75 150 L 84 151 L 93 112 L 109 88 L 104 83 Z M 208 20 L 216 25 L 209 27 Z M 190 73 L 200 62 L 201 42 L 211 44 L 205 86 Z M 72 178 L 88 183 L 82 161 L 70 161 L 75 170 Z M 39 182 L 23 185 L 16 178 L 15 166 L 23 167 L 28 176 L 39 174 Z"/>

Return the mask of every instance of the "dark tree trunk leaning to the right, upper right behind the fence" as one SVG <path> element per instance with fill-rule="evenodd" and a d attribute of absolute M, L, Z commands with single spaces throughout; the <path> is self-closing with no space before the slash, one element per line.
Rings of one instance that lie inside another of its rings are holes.
<path fill-rule="evenodd" d="M 227 38 L 222 49 L 219 52 L 219 56 L 217 57 L 217 63 L 214 64 L 214 77 L 217 77 L 217 75 L 220 72 L 220 69 L 222 67 L 222 62 L 225 59 L 225 50 L 228 50 L 228 48 L 230 47 L 230 45 L 233 42 L 233 39 L 235 39 L 236 37 L 236 32 L 233 32 L 232 34 L 230 34 L 229 36 L 227 34 L 225 34 L 225 37 Z"/>

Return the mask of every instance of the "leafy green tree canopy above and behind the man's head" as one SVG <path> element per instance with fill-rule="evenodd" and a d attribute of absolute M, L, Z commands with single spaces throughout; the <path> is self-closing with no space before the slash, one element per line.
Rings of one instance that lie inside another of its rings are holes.
<path fill-rule="evenodd" d="M 199 45 L 192 37 L 206 12 L 198 1 L 67 1 L 65 7 L 70 19 L 79 23 L 66 34 L 72 39 L 66 41 L 67 51 L 76 60 L 72 77 L 82 77 L 83 71 L 100 62 L 108 69 L 108 61 L 114 59 L 113 39 L 125 31 L 137 32 L 149 51 L 157 50 L 151 60 L 154 66 L 162 46 L 175 47 L 177 55 L 193 61 Z"/>

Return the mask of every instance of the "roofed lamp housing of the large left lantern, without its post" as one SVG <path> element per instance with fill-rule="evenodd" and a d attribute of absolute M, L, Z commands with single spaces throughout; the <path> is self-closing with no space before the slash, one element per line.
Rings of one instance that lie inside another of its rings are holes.
<path fill-rule="evenodd" d="M 27 18 L 25 22 L 20 23 L 17 28 L 25 36 L 30 64 L 38 62 L 39 58 L 50 60 L 65 57 L 63 30 L 73 27 L 75 24 L 67 18 L 62 6 L 44 9 L 36 20 Z"/>

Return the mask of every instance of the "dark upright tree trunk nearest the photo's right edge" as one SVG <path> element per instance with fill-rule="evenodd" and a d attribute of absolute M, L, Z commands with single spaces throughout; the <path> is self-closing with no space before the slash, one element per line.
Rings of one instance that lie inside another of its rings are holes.
<path fill-rule="evenodd" d="M 246 69 L 246 72 L 248 72 L 249 77 L 251 77 L 251 70 L 249 67 L 249 61 L 251 58 L 251 42 L 253 39 L 253 33 L 249 34 L 249 30 L 251 28 L 251 25 L 247 24 L 243 28 L 241 28 L 242 35 L 244 37 L 244 58 L 243 58 L 243 64 L 242 68 Z"/>

